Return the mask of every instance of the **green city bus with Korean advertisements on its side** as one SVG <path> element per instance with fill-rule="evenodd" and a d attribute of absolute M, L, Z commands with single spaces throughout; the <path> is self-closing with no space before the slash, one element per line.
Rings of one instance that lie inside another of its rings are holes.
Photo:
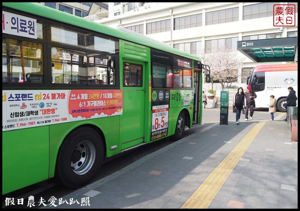
<path fill-rule="evenodd" d="M 199 57 L 38 3 L 2 3 L 2 194 L 88 184 L 103 158 L 201 124 Z M 199 102 L 200 101 L 200 102 Z"/>

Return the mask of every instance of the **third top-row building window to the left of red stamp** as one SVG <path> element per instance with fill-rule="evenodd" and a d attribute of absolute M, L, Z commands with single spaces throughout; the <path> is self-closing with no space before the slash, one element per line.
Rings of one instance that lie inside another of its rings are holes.
<path fill-rule="evenodd" d="M 174 30 L 202 26 L 202 14 L 174 18 Z"/>

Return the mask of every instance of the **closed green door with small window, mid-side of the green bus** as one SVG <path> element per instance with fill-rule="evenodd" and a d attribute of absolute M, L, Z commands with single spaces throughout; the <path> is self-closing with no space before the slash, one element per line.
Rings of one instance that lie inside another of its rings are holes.
<path fill-rule="evenodd" d="M 121 151 L 144 142 L 145 63 L 123 60 Z"/>

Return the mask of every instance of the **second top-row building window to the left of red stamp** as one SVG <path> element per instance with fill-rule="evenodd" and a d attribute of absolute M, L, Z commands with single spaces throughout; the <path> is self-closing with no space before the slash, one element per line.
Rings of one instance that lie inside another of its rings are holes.
<path fill-rule="evenodd" d="M 207 12 L 205 18 L 206 26 L 238 21 L 238 7 Z"/>

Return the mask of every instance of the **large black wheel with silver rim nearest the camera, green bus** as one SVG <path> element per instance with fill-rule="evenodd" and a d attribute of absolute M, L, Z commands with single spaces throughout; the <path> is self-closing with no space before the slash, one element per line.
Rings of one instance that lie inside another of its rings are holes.
<path fill-rule="evenodd" d="M 72 131 L 62 143 L 55 165 L 54 179 L 69 188 L 80 188 L 98 173 L 103 160 L 103 144 L 93 129 Z"/>

